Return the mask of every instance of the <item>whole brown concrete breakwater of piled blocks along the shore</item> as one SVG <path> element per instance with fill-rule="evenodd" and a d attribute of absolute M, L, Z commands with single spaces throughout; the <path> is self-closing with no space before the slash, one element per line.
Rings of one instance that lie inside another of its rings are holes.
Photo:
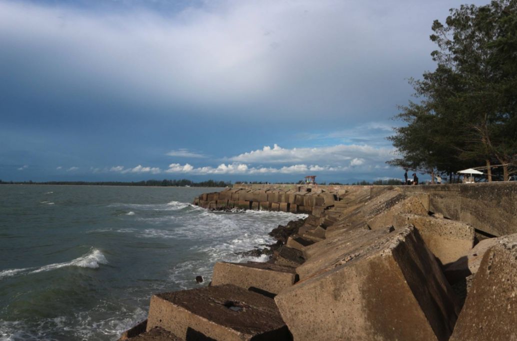
<path fill-rule="evenodd" d="M 517 184 L 239 186 L 208 209 L 307 213 L 267 263 L 151 298 L 123 339 L 517 338 Z M 217 232 L 215 232 L 217 233 Z M 277 231 L 278 233 L 278 231 Z"/>

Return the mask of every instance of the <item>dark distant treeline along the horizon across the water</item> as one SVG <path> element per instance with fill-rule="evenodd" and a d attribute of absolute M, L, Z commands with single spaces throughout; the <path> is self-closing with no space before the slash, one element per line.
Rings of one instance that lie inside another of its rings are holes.
<path fill-rule="evenodd" d="M 207 180 L 202 182 L 193 182 L 187 179 L 181 180 L 147 180 L 138 182 L 123 182 L 123 181 L 47 181 L 47 182 L 33 182 L 31 181 L 9 181 L 0 180 L 0 184 L 14 184 L 14 185 L 89 185 L 89 186 L 161 186 L 161 187 L 226 187 L 232 186 L 232 182 Z"/>

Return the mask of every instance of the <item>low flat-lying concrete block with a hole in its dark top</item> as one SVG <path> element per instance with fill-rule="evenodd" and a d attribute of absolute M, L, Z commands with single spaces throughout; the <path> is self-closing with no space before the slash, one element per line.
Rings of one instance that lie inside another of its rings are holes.
<path fill-rule="evenodd" d="M 241 341 L 289 337 L 272 299 L 230 284 L 153 295 L 147 330 L 154 327 L 182 339 Z"/>

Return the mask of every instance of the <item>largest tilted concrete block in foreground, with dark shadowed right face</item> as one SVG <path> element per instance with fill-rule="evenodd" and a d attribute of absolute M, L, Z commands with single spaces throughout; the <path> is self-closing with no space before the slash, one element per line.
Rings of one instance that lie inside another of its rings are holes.
<path fill-rule="evenodd" d="M 447 340 L 458 302 L 418 231 L 370 234 L 275 298 L 294 339 Z"/>

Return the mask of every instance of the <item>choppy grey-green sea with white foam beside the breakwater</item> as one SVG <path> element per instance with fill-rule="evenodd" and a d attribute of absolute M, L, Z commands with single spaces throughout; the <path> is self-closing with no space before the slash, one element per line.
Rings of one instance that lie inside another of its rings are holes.
<path fill-rule="evenodd" d="M 235 252 L 297 216 L 190 204 L 216 190 L 0 185 L 0 340 L 115 340 L 151 294 L 206 285 L 217 261 L 265 261 Z"/>

